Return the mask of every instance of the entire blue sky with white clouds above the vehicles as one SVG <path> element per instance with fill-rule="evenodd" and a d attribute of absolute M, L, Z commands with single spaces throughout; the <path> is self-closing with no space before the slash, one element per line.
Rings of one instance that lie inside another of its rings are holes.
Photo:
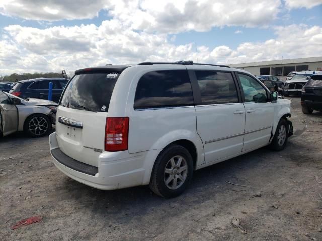
<path fill-rule="evenodd" d="M 321 0 L 238 3 L 7 0 L 0 3 L 0 74 L 74 71 L 106 62 L 198 57 L 238 63 L 322 55 Z"/>

